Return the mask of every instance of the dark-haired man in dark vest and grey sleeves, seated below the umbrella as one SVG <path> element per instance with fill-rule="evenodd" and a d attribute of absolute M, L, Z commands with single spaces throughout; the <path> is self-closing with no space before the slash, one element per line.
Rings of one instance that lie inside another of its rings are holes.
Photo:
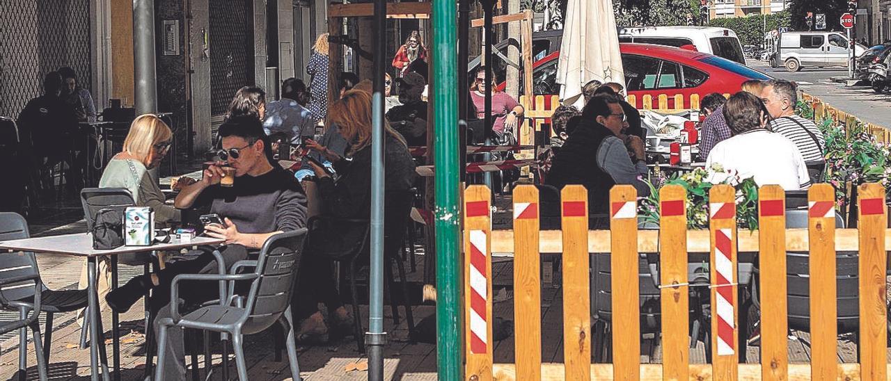
<path fill-rule="evenodd" d="M 576 130 L 554 155 L 546 183 L 558 189 L 568 184 L 584 185 L 588 190 L 588 210 L 592 214 L 607 212 L 609 189 L 615 184 L 631 184 L 637 189 L 638 196 L 649 195 L 650 188 L 640 180 L 649 173 L 641 138 L 626 138 L 633 152 L 629 155 L 625 142 L 618 137 L 627 126 L 625 113 L 615 95 L 593 97 L 584 106 Z"/>

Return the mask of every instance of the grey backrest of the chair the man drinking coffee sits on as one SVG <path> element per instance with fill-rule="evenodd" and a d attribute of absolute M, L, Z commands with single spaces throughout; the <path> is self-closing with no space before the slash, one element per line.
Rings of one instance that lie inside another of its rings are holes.
<path fill-rule="evenodd" d="M 244 334 L 268 328 L 288 309 L 306 238 L 307 229 L 299 229 L 266 239 L 254 269 L 258 278 L 252 282 L 244 304 L 245 315 L 241 318 Z"/>

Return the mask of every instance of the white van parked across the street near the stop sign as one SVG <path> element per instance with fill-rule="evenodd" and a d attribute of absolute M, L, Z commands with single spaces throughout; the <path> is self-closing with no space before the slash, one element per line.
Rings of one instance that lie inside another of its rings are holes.
<path fill-rule="evenodd" d="M 776 68 L 782 65 L 789 71 L 798 71 L 802 67 L 847 67 L 847 45 L 847 37 L 839 32 L 781 33 L 771 66 Z M 854 45 L 854 57 L 859 57 L 865 51 L 866 46 Z"/>

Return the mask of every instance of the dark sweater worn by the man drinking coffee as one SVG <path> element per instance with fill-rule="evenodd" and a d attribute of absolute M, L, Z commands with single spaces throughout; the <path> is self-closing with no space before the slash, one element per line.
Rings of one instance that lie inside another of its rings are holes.
<path fill-rule="evenodd" d="M 212 185 L 196 205 L 210 204 L 210 212 L 226 217 L 242 233 L 295 231 L 307 226 L 307 196 L 290 172 L 280 166 L 258 176 L 235 177 L 233 186 Z"/>

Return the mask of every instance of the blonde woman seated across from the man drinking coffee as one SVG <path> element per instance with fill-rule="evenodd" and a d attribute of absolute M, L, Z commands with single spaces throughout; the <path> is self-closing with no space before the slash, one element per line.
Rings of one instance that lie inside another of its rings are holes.
<path fill-rule="evenodd" d="M 141 115 L 130 125 L 130 132 L 124 140 L 124 150 L 109 161 L 99 180 L 100 188 L 126 188 L 130 190 L 137 207 L 151 207 L 155 212 L 155 222 L 161 225 L 181 221 L 180 211 L 164 203 L 165 196 L 158 185 L 158 179 L 149 173 L 157 167 L 170 150 L 173 133 L 163 120 L 155 115 Z M 174 187 L 179 189 L 195 182 L 191 177 L 183 177 Z M 111 272 L 107 256 L 100 257 L 99 263 L 99 303 L 105 309 L 105 295 L 110 290 Z M 125 258 L 120 258 L 129 262 Z M 135 258 L 132 258 L 135 261 Z M 80 274 L 80 287 L 86 288 L 86 265 Z"/>

